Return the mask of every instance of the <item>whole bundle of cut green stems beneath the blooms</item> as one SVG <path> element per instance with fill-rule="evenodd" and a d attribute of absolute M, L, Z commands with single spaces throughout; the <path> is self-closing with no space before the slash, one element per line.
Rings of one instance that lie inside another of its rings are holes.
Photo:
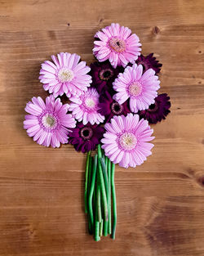
<path fill-rule="evenodd" d="M 89 233 L 99 241 L 108 234 L 115 239 L 117 223 L 116 194 L 114 184 L 115 164 L 97 146 L 95 157 L 87 153 L 85 173 L 85 213 Z"/>

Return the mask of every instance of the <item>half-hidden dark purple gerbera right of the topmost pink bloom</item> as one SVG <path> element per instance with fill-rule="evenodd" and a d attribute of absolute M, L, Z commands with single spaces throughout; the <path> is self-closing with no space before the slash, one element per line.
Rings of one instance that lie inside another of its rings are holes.
<path fill-rule="evenodd" d="M 142 54 L 138 57 L 136 61 L 137 65 L 143 65 L 144 72 L 153 69 L 156 74 L 158 74 L 162 68 L 162 64 L 159 63 L 153 53 L 150 53 L 148 56 L 143 56 Z"/>

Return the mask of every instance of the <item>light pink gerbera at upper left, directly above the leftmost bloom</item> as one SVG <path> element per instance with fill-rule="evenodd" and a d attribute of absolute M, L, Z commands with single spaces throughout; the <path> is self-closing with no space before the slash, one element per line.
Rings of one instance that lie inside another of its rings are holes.
<path fill-rule="evenodd" d="M 87 73 L 91 70 L 85 61 L 80 60 L 80 56 L 68 52 L 60 52 L 57 56 L 51 56 L 52 61 L 42 63 L 40 70 L 40 82 L 43 88 L 54 97 L 79 96 L 87 91 L 90 86 L 91 76 Z"/>

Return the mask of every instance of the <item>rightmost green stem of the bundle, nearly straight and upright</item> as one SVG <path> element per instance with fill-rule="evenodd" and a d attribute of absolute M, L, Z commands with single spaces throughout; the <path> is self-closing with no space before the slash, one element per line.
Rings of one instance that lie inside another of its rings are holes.
<path fill-rule="evenodd" d="M 114 174 L 115 174 L 115 164 L 112 163 L 112 167 L 111 167 L 111 188 L 112 188 L 112 195 L 113 195 L 113 230 L 112 230 L 112 238 L 113 239 L 115 239 L 115 231 L 116 231 L 116 223 L 117 223 L 117 206 L 116 206 Z"/>

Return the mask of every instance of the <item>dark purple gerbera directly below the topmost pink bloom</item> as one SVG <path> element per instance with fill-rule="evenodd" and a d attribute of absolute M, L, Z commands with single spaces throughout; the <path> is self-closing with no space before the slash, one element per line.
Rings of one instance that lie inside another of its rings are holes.
<path fill-rule="evenodd" d="M 109 61 L 95 61 L 90 66 L 92 85 L 97 89 L 99 93 L 107 90 L 112 91 L 112 83 L 118 77 L 118 74 L 124 70 L 122 67 L 117 67 L 114 69 L 113 66 L 110 65 Z"/>

